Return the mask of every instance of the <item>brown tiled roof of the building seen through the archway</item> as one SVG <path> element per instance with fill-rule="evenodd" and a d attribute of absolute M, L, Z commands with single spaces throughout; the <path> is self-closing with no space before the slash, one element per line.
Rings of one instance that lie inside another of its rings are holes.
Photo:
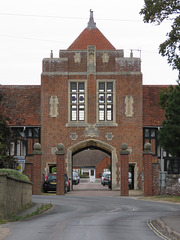
<path fill-rule="evenodd" d="M 84 150 L 73 156 L 73 167 L 95 167 L 107 156 L 100 150 Z"/>

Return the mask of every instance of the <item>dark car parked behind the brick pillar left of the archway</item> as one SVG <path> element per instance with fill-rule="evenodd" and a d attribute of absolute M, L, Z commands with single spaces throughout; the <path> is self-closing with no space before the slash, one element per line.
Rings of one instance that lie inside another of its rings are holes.
<path fill-rule="evenodd" d="M 43 192 L 56 191 L 57 174 L 49 173 L 46 175 L 43 183 Z M 64 192 L 70 191 L 70 183 L 67 174 L 64 174 Z"/>

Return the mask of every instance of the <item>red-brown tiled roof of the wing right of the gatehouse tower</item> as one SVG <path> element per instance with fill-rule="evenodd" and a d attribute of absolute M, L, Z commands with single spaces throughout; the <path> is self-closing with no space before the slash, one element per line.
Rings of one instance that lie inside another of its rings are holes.
<path fill-rule="evenodd" d="M 161 126 L 164 111 L 159 105 L 160 91 L 168 86 L 144 85 L 143 86 L 143 125 Z"/>

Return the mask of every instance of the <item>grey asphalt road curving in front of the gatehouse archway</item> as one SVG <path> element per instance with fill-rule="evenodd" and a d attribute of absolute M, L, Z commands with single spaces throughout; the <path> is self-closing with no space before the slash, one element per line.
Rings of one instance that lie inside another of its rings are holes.
<path fill-rule="evenodd" d="M 148 221 L 180 213 L 180 205 L 176 204 L 120 197 L 103 190 L 94 193 L 33 196 L 34 202 L 50 202 L 53 209 L 5 224 L 10 229 L 5 240 L 158 240 L 163 237 L 150 229 Z"/>

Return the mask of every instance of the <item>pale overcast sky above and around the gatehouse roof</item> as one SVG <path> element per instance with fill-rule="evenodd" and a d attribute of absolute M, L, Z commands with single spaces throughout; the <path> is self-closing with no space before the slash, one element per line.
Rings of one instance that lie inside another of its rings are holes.
<path fill-rule="evenodd" d="M 171 23 L 143 22 L 144 0 L 6 0 L 0 8 L 0 84 L 39 85 L 42 60 L 58 57 L 87 27 L 98 29 L 125 57 L 141 57 L 143 84 L 176 84 L 178 72 L 158 53 Z"/>

